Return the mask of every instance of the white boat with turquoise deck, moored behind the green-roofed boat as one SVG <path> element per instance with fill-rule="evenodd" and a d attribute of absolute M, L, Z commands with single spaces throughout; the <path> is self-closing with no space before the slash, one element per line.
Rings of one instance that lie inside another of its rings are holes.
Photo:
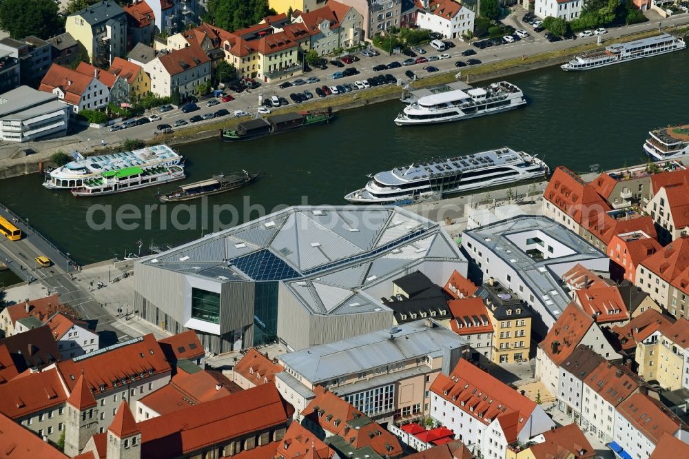
<path fill-rule="evenodd" d="M 71 190 L 84 182 L 96 179 L 103 172 L 117 172 L 128 167 L 171 167 L 182 162 L 182 156 L 167 145 L 154 145 L 132 152 L 119 152 L 101 156 L 81 156 L 74 152 L 74 161 L 56 167 L 45 174 L 43 186 L 50 189 Z"/>

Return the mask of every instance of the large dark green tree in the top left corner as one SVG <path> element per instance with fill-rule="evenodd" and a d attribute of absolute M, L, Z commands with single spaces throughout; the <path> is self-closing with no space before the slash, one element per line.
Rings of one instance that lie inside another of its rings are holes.
<path fill-rule="evenodd" d="M 35 35 L 48 39 L 65 26 L 54 0 L 3 0 L 0 28 L 15 39 Z"/>

